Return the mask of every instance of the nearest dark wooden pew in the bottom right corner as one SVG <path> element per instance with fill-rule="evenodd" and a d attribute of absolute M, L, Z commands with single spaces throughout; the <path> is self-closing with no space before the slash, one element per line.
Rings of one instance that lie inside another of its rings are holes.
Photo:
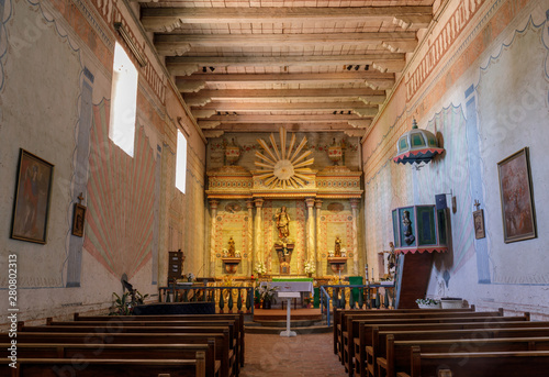
<path fill-rule="evenodd" d="M 414 346 L 411 368 L 410 375 L 399 373 L 397 376 L 437 376 L 438 369 L 451 377 L 546 376 L 549 351 L 423 353 Z"/>

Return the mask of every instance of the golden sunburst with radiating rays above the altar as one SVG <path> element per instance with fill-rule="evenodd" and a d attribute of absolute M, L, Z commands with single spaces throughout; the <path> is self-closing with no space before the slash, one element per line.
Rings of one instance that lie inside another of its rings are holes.
<path fill-rule="evenodd" d="M 279 133 L 280 149 L 274 141 L 273 134 L 269 136 L 271 147 L 269 147 L 262 138 L 257 141 L 264 148 L 265 154 L 257 151 L 256 157 L 261 160 L 256 160 L 255 164 L 256 166 L 262 167 L 267 170 L 267 173 L 257 176 L 257 178 L 265 179 L 265 186 L 269 186 L 270 189 L 285 189 L 290 186 L 294 189 L 304 187 L 306 181 L 311 179 L 304 175 L 304 173 L 311 173 L 311 169 L 306 166 L 314 164 L 314 158 L 305 159 L 313 153 L 312 151 L 305 151 L 300 155 L 301 151 L 307 143 L 307 138 L 303 136 L 303 140 L 295 148 L 295 152 L 292 152 L 293 146 L 295 145 L 295 134 L 292 133 L 290 146 L 287 149 L 285 129 L 280 127 Z"/>

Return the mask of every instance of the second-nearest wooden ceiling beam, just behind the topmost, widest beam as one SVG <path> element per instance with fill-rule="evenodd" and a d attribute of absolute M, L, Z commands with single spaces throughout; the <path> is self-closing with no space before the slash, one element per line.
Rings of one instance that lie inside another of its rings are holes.
<path fill-rule="evenodd" d="M 415 32 L 330 33 L 330 34 L 155 34 L 160 55 L 182 55 L 193 47 L 287 47 L 412 44 L 417 45 Z"/>

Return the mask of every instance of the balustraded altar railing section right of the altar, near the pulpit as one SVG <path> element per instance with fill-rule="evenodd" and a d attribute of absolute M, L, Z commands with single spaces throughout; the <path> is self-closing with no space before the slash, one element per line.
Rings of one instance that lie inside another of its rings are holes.
<path fill-rule="evenodd" d="M 383 298 L 380 288 L 385 288 Z M 391 293 L 389 292 L 391 290 Z M 394 284 L 326 285 L 321 286 L 321 309 L 330 324 L 330 311 L 337 309 L 394 308 Z"/>

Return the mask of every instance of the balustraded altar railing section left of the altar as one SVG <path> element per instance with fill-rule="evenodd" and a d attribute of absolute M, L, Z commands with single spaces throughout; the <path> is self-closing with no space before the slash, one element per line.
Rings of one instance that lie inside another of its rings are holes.
<path fill-rule="evenodd" d="M 254 313 L 254 287 L 168 286 L 158 288 L 159 302 L 215 302 L 220 312 L 236 309 Z M 226 303 L 225 303 L 226 302 Z"/>

